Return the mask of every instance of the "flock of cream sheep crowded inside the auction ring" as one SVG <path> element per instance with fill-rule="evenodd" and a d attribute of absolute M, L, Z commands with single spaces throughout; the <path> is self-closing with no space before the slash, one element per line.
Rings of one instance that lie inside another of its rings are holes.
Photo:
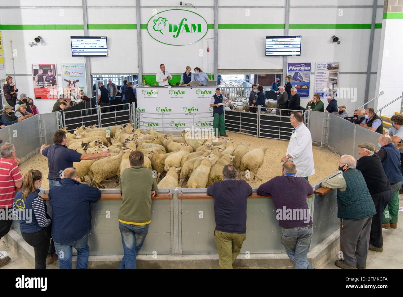
<path fill-rule="evenodd" d="M 174 137 L 158 133 L 154 129 L 143 131 L 133 124 L 115 125 L 106 128 L 95 126 L 77 127 L 74 133 L 67 132 L 68 147 L 80 153 L 99 153 L 108 150 L 110 157 L 81 160 L 73 166 L 81 181 L 85 177 L 90 185 L 104 188 L 100 183 L 115 178 L 129 168 L 129 154 L 139 150 L 144 154 L 144 167 L 154 171 L 160 188 L 206 187 L 222 180 L 222 169 L 233 164 L 240 178 L 262 180 L 257 173 L 264 162 L 267 147 L 249 150 L 251 143 L 235 145 L 231 139 L 188 138 L 186 131 Z"/>

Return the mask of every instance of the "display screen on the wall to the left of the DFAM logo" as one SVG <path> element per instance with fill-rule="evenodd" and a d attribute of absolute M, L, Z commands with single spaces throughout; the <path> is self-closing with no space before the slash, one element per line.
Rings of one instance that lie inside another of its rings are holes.
<path fill-rule="evenodd" d="M 73 57 L 106 57 L 108 55 L 106 37 L 70 36 L 70 40 Z"/>

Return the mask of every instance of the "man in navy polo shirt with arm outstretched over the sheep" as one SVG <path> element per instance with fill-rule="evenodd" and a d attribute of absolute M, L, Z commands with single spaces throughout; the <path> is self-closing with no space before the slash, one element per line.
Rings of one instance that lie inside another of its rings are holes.
<path fill-rule="evenodd" d="M 66 132 L 58 130 L 53 135 L 54 145 L 42 145 L 41 154 L 48 157 L 49 166 L 49 188 L 53 185 L 60 185 L 63 170 L 73 167 L 73 162 L 81 160 L 93 160 L 101 157 L 110 157 L 110 152 L 102 152 L 98 154 L 80 154 L 75 150 L 69 149 L 67 145 Z"/>

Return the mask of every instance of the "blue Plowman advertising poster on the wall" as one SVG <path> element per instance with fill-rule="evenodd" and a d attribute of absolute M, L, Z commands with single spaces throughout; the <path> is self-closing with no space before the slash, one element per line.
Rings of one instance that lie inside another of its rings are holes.
<path fill-rule="evenodd" d="M 300 98 L 309 98 L 311 63 L 288 63 L 287 75 Z"/>

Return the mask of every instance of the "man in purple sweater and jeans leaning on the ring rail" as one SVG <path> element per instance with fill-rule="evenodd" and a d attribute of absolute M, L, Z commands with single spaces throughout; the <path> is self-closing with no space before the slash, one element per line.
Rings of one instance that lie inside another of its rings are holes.
<path fill-rule="evenodd" d="M 280 176 L 273 177 L 258 188 L 260 196 L 272 196 L 278 225 L 283 227 L 281 243 L 295 269 L 314 269 L 307 260 L 312 239 L 312 219 L 306 198 L 313 189 L 303 177 L 296 177 L 293 161 L 283 162 Z"/>

